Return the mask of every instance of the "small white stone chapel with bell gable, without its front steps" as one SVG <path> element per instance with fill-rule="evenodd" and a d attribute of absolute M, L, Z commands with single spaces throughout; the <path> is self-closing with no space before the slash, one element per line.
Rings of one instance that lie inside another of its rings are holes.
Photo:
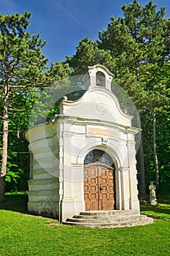
<path fill-rule="evenodd" d="M 28 212 L 60 222 L 85 211 L 139 213 L 134 135 L 140 129 L 112 93 L 112 73 L 101 64 L 88 72 L 90 86 L 80 99 L 63 97 L 55 120 L 26 132 Z"/>

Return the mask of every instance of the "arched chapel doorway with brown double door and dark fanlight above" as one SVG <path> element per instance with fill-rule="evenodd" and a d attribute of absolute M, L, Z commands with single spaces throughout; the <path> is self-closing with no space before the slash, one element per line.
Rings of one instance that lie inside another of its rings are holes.
<path fill-rule="evenodd" d="M 115 165 L 104 151 L 94 149 L 84 160 L 85 211 L 115 208 Z"/>

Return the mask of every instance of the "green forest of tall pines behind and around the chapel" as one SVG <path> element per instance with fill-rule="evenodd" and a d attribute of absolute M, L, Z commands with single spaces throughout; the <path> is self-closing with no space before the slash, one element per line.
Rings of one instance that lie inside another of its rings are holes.
<path fill-rule="evenodd" d="M 136 156 L 140 195 L 145 195 L 150 181 L 159 192 L 169 192 L 170 18 L 152 1 L 142 6 L 134 0 L 122 10 L 123 17 L 111 17 L 98 40 L 83 38 L 73 56 L 50 67 L 42 54 L 46 42 L 27 31 L 31 13 L 0 15 L 0 200 L 4 191 L 28 189 L 29 154 L 23 134 L 42 91 L 69 76 L 86 74 L 88 66 L 97 63 L 115 75 L 114 82 L 133 99 L 141 118 Z M 81 95 L 80 90 L 69 99 Z M 52 107 L 50 118 L 58 113 L 58 105 Z"/>

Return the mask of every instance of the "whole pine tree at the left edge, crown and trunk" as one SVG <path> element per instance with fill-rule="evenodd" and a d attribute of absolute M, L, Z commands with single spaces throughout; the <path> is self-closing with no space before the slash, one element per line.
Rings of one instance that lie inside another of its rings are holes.
<path fill-rule="evenodd" d="M 7 175 L 7 149 L 9 136 L 9 116 L 18 98 L 26 91 L 42 87 L 45 83 L 45 64 L 42 54 L 45 42 L 39 34 L 26 32 L 31 13 L 23 15 L 0 15 L 0 94 L 2 118 L 2 148 L 0 200 L 4 198 L 4 184 Z M 20 108 L 20 106 L 18 106 Z M 23 107 L 23 106 L 22 106 Z M 22 109 L 23 110 L 23 109 Z"/>

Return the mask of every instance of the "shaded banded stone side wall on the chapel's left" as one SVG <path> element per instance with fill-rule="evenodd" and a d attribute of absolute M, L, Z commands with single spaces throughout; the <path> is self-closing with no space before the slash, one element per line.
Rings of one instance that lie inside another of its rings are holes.
<path fill-rule="evenodd" d="M 34 127 L 26 137 L 31 142 L 28 212 L 59 219 L 59 144 L 56 123 Z"/>

